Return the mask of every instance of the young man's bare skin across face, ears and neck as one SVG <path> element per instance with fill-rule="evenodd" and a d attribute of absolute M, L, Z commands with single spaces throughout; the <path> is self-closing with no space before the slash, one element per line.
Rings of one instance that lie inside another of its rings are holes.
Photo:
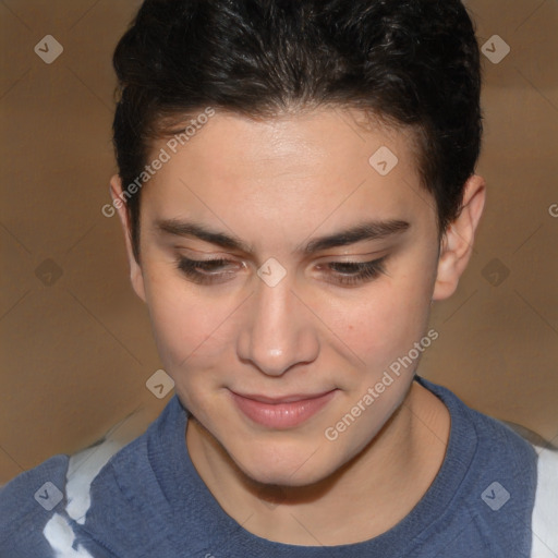
<path fill-rule="evenodd" d="M 331 108 L 268 121 L 217 112 L 143 189 L 141 266 L 119 210 L 132 286 L 192 414 L 195 468 L 244 529 L 288 544 L 349 544 L 392 527 L 432 484 L 449 436 L 444 403 L 412 381 L 416 361 L 335 441 L 324 434 L 425 336 L 432 301 L 451 295 L 466 267 L 485 197 L 483 179 L 471 177 L 440 241 L 410 135 L 364 130 L 359 118 Z M 385 177 L 368 163 L 380 146 L 399 159 Z M 161 147 L 154 144 L 154 157 Z M 111 192 L 121 193 L 118 177 Z M 161 233 L 165 219 L 195 220 L 250 250 Z M 409 227 L 296 252 L 369 219 Z M 199 284 L 178 269 L 180 256 L 231 264 L 217 269 L 217 282 Z M 384 256 L 383 271 L 355 284 L 339 282 L 347 269 L 328 267 Z M 275 287 L 257 275 L 270 257 L 287 272 Z M 274 429 L 250 421 L 231 390 L 336 391 L 302 425 Z"/>

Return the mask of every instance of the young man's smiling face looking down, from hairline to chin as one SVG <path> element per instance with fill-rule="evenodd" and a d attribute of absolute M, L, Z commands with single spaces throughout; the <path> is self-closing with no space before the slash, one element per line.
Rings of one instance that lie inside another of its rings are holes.
<path fill-rule="evenodd" d="M 391 372 L 381 393 L 369 388 L 427 328 L 434 201 L 409 138 L 365 131 L 356 117 L 218 112 L 175 154 L 154 146 L 170 159 L 142 192 L 132 281 L 165 369 L 197 422 L 263 483 L 319 481 L 366 447 L 416 362 Z M 398 159 L 388 173 L 386 151 L 369 162 L 381 147 Z M 336 427 L 348 413 L 354 421 Z"/>

